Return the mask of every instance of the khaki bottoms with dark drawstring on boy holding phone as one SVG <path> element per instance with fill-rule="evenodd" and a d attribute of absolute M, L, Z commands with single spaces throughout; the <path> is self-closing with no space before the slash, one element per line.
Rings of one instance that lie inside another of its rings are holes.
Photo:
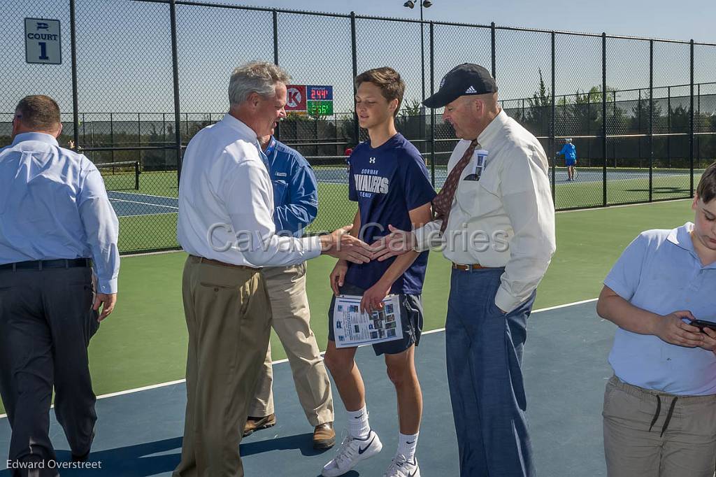
<path fill-rule="evenodd" d="M 657 420 L 657 395 L 661 406 Z M 674 401 L 669 425 L 664 423 Z M 611 377 L 604 392 L 609 477 L 711 477 L 716 464 L 716 396 L 674 396 Z"/>

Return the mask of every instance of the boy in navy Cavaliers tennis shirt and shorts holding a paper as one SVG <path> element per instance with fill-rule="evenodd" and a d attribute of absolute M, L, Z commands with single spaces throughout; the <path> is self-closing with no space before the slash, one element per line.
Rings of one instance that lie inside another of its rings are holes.
<path fill-rule="evenodd" d="M 370 69 L 356 78 L 356 113 L 370 140 L 356 146 L 350 157 L 349 198 L 358 203 L 352 235 L 372 244 L 389 233 L 388 225 L 407 230 L 432 218 L 435 191 L 418 150 L 395 130 L 405 83 L 389 67 Z M 385 355 L 395 385 L 400 438 L 397 453 L 384 476 L 420 476 L 415 459 L 422 415 L 422 393 L 415 372 L 415 346 L 422 329 L 422 283 L 427 252 L 412 252 L 387 261 L 354 266 L 339 261 L 330 276 L 334 294 L 362 296 L 361 309 L 382 309 L 387 294 L 400 295 L 402 339 L 374 344 Z M 340 476 L 359 461 L 382 449 L 368 423 L 365 389 L 354 362 L 356 348 L 337 348 L 333 333 L 334 300 L 329 308 L 329 342 L 324 360 L 349 415 L 349 435 L 337 456 L 323 468 L 325 477 Z"/>

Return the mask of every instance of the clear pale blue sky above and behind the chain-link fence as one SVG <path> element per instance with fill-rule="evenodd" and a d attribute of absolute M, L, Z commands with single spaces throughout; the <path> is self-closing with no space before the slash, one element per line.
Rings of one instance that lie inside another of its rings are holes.
<path fill-rule="evenodd" d="M 43 92 L 72 111 L 71 52 L 67 0 L 4 1 L 0 18 L 0 113 L 11 112 L 17 99 Z M 167 4 L 130 0 L 77 1 L 77 75 L 79 112 L 87 121 L 126 121 L 133 127 L 137 112 L 143 120 L 162 120 L 173 112 L 172 56 Z M 211 0 L 209 0 L 211 1 Z M 281 9 L 329 11 L 369 16 L 420 18 L 405 0 L 213 0 Z M 432 0 L 425 19 L 498 26 L 528 26 L 599 34 L 624 34 L 716 43 L 714 0 L 646 1 Z M 246 2 L 246 3 L 244 3 Z M 692 12 L 692 13 L 684 13 Z M 24 18 L 62 22 L 62 64 L 26 64 Z M 233 67 L 250 60 L 273 61 L 270 12 L 205 6 L 177 6 L 179 90 L 182 112 L 226 111 L 228 77 Z M 427 28 L 426 94 L 430 94 Z M 422 99 L 420 90 L 420 26 L 405 22 L 357 21 L 358 71 L 390 65 L 407 84 L 406 102 Z M 542 72 L 551 82 L 550 35 L 498 30 L 496 77 L 500 98 L 528 98 L 538 89 Z M 607 86 L 623 92 L 649 86 L 649 42 L 607 40 Z M 462 26 L 435 27 L 435 84 L 463 62 L 490 67 L 490 30 Z M 334 86 L 334 110 L 349 112 L 353 104 L 350 25 L 347 19 L 279 14 L 279 64 L 297 85 Z M 5 72 L 5 73 L 2 73 Z M 574 95 L 601 87 L 601 39 L 558 35 L 556 95 Z M 688 95 L 687 44 L 654 44 L 655 97 Z M 716 82 L 716 47 L 695 48 L 695 82 Z M 701 90 L 714 94 L 716 87 Z M 637 100 L 638 92 L 620 93 L 619 100 Z M 505 106 L 515 107 L 518 103 Z M 101 114 L 91 114 L 101 113 Z M 125 114 L 121 114 L 125 113 Z M 157 113 L 153 117 L 147 113 Z M 0 116 L 0 121 L 8 116 Z"/>

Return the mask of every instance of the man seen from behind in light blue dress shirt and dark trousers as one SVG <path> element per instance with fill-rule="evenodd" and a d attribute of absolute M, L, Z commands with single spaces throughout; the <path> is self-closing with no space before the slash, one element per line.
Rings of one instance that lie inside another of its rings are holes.
<path fill-rule="evenodd" d="M 59 475 L 53 389 L 72 461 L 87 461 L 97 421 L 87 346 L 117 300 L 117 216 L 100 172 L 59 147 L 60 133 L 57 102 L 27 96 L 0 150 L 0 395 L 14 476 Z"/>

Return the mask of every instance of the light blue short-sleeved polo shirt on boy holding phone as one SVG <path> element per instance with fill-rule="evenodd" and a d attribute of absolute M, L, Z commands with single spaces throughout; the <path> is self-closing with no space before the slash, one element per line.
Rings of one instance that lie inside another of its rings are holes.
<path fill-rule="evenodd" d="M 690 236 L 693 226 L 642 232 L 604 284 L 652 313 L 689 310 L 697 319 L 716 321 L 716 263 L 701 265 Z M 716 356 L 702 348 L 618 328 L 609 363 L 616 377 L 631 385 L 675 395 L 716 394 Z"/>

